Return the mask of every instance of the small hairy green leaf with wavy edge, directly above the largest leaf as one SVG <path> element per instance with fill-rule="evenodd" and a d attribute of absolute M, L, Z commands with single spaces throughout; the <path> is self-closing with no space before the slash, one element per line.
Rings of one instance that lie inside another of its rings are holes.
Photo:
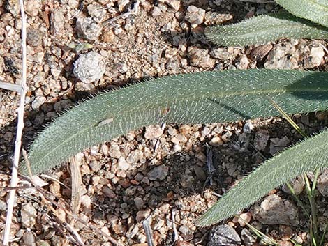
<path fill-rule="evenodd" d="M 211 26 L 205 35 L 216 45 L 262 45 L 280 38 L 327 39 L 328 29 L 290 14 L 260 15 L 230 25 Z"/>

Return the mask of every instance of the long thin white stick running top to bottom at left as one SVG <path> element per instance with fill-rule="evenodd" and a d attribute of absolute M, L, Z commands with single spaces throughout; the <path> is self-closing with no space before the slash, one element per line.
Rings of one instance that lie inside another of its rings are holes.
<path fill-rule="evenodd" d="M 18 164 L 20 162 L 20 148 L 22 146 L 22 131 L 24 128 L 24 104 L 27 93 L 27 22 L 25 17 L 24 2 L 20 0 L 20 14 L 22 15 L 22 93 L 20 95 L 20 106 L 17 109 L 17 134 L 15 141 L 15 152 L 13 160 L 13 170 L 11 173 L 10 187 L 17 187 L 18 183 Z M 3 233 L 3 245 L 9 245 L 10 226 L 13 218 L 13 208 L 16 190 L 10 190 L 7 201 L 6 227 Z"/>

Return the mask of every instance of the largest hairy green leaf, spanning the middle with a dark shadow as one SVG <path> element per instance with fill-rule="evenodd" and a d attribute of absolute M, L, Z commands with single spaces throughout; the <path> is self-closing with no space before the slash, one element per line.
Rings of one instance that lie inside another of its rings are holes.
<path fill-rule="evenodd" d="M 214 123 L 328 108 L 328 72 L 229 70 L 177 75 L 97 95 L 73 107 L 31 145 L 33 174 L 84 148 L 155 123 Z M 27 168 L 21 165 L 23 174 Z"/>

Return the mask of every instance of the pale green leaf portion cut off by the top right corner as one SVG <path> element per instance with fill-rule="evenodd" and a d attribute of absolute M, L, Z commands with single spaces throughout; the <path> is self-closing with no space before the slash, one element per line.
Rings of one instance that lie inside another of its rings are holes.
<path fill-rule="evenodd" d="M 328 27 L 327 0 L 276 0 L 276 2 L 297 17 Z"/>

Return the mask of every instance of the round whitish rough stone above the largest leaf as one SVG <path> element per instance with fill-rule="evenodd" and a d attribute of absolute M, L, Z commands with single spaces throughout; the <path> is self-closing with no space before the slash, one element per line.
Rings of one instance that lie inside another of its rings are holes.
<path fill-rule="evenodd" d="M 80 54 L 79 58 L 74 62 L 73 73 L 77 79 L 84 83 L 97 81 L 105 73 L 103 56 L 100 56 L 97 52 Z"/>

